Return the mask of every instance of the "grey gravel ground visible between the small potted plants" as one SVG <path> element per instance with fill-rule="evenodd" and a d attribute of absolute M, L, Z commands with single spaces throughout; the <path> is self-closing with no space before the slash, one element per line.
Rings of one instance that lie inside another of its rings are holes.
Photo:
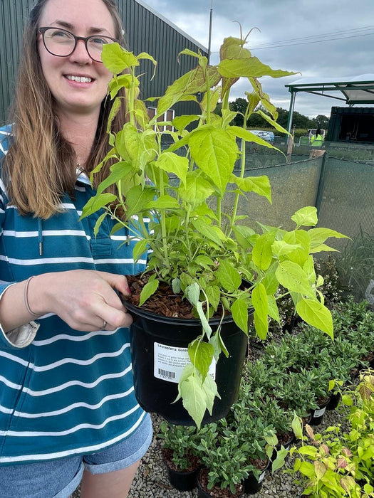
<path fill-rule="evenodd" d="M 158 425 L 162 420 L 157 415 L 152 415 L 155 435 L 158 432 Z M 328 425 L 335 425 L 341 420 L 338 411 L 327 411 L 323 417 L 321 425 L 314 428 L 315 432 L 321 432 Z M 291 459 L 286 460 L 286 467 L 291 466 Z M 272 475 L 266 473 L 261 490 L 255 495 L 244 494 L 244 498 L 254 497 L 276 497 L 276 498 L 293 498 L 299 497 L 302 488 L 294 484 L 292 477 L 278 470 Z M 73 493 L 72 498 L 79 498 L 79 489 Z M 170 486 L 167 478 L 167 470 L 162 460 L 161 442 L 156 437 L 153 438 L 152 444 L 147 451 L 142 463 L 137 470 L 133 486 L 130 489 L 128 498 L 195 498 L 197 489 L 187 492 L 180 492 Z"/>

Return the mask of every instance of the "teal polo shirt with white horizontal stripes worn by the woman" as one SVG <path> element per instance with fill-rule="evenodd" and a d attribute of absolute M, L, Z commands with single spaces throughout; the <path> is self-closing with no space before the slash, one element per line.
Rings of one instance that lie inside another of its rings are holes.
<path fill-rule="evenodd" d="M 11 127 L 0 128 L 0 163 Z M 41 221 L 20 216 L 0 180 L 0 298 L 6 287 L 44 272 L 86 269 L 130 274 L 134 263 L 125 231 L 110 235 L 100 213 L 80 221 L 95 192 L 80 174 L 76 198 Z M 14 310 L 16 313 L 16 309 Z M 0 331 L 0 465 L 98 452 L 132 434 L 145 417 L 137 404 L 128 329 L 79 332 L 55 314 Z"/>

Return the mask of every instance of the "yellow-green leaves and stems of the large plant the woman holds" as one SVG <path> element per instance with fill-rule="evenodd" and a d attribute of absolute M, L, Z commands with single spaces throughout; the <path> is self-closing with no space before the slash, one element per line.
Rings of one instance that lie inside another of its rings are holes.
<path fill-rule="evenodd" d="M 221 351 L 227 354 L 220 338 L 220 324 L 215 331 L 209 326 L 213 314 L 223 319 L 231 313 L 234 322 L 247 333 L 247 317 L 254 312 L 256 333 L 265 339 L 269 317 L 279 320 L 274 295 L 282 285 L 306 322 L 333 335 L 331 314 L 318 288 L 323 279 L 313 269 L 313 254 L 329 250 L 324 244 L 327 238 L 343 235 L 313 228 L 318 221 L 314 207 L 301 208 L 292 216 L 292 231 L 259 223 L 259 233 L 254 233 L 245 224 L 248 216 L 238 215 L 241 196 L 259 195 L 271 202 L 271 188 L 267 176 L 244 176 L 245 147 L 239 150 L 237 142 L 240 139 L 244 146 L 245 142 L 255 142 L 274 147 L 246 127 L 231 124 L 238 112 L 230 110 L 230 90 L 239 78 L 246 78 L 250 91 L 245 92 L 244 122 L 256 112 L 265 117 L 268 125 L 286 133 L 276 122 L 278 112 L 262 90 L 259 78 L 292 74 L 264 65 L 244 48 L 245 43 L 246 39 L 225 38 L 221 60 L 214 66 L 208 65 L 200 53 L 182 51 L 180 55 L 196 58 L 197 66 L 175 80 L 165 95 L 153 99 L 157 100 L 157 111 L 152 119 L 147 117 L 144 103 L 137 99 L 140 80 L 136 71 L 140 59 L 147 58 L 154 65 L 155 60 L 145 53 L 135 56 L 117 44 L 104 47 L 103 63 L 115 73 L 110 97 L 117 106 L 118 90 L 125 89 L 128 122 L 116 135 L 108 128 L 113 149 L 95 168 L 91 179 L 109 164 L 110 175 L 83 208 L 83 217 L 103 212 L 98 226 L 105 216 L 110 216 L 118 226 L 128 229 L 130 238 L 140 238 L 135 258 L 140 257 L 145 245 L 150 248 L 148 271 L 152 277 L 142 291 L 141 303 L 160 282 L 166 282 L 180 289 L 199 317 L 201 334 L 189 344 L 191 364 L 180 378 L 178 396 L 197 426 L 206 410 L 212 412 L 214 397 L 218 396 L 207 366 L 213 356 L 218 359 Z M 120 74 L 123 70 L 125 75 Z M 202 95 L 199 101 L 197 93 Z M 179 116 L 172 122 L 157 121 L 177 102 L 185 100 L 197 102 L 199 114 Z M 266 113 L 255 111 L 257 105 Z M 192 123 L 195 127 L 189 131 Z M 162 148 L 165 134 L 173 142 L 167 149 Z M 240 171 L 234 174 L 238 159 Z M 177 184 L 170 181 L 170 175 L 177 177 Z M 115 186 L 116 194 L 105 191 L 110 186 Z M 233 189 L 232 209 L 224 213 L 224 198 Z M 119 213 L 125 213 L 125 217 Z M 249 282 L 246 288 L 241 285 L 243 280 Z M 209 341 L 209 346 L 203 339 Z"/>

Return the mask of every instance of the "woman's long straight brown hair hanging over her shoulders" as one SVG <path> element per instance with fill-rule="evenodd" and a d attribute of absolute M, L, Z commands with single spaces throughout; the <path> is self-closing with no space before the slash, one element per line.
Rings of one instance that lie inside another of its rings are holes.
<path fill-rule="evenodd" d="M 110 11 L 115 38 L 123 45 L 123 26 L 113 0 L 102 0 Z M 63 138 L 54 112 L 53 97 L 41 70 L 38 55 L 38 23 L 48 0 L 38 0 L 30 12 L 24 31 L 23 52 L 11 108 L 13 137 L 4 160 L 4 181 L 9 200 L 22 215 L 49 218 L 59 211 L 64 192 L 74 195 L 76 156 L 71 144 Z M 122 95 L 123 96 L 123 95 Z M 95 142 L 85 165 L 88 173 L 110 150 L 106 128 L 112 103 L 103 100 Z M 125 105 L 113 120 L 113 132 L 125 122 Z M 103 167 L 95 175 L 96 184 L 108 175 Z"/>

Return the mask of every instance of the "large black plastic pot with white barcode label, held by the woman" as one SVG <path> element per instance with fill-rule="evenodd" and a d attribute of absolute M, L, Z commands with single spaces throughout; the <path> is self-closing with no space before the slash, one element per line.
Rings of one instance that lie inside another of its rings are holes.
<path fill-rule="evenodd" d="M 138 403 L 145 411 L 162 415 L 175 425 L 194 425 L 182 400 L 173 402 L 177 398 L 180 374 L 189 362 L 187 346 L 202 332 L 199 320 L 162 317 L 128 302 L 126 307 L 134 319 L 130 338 Z M 249 319 L 253 319 L 253 315 Z M 219 319 L 212 319 L 209 324 L 215 330 Z M 221 336 L 229 357 L 220 354 L 210 370 L 221 399 L 215 398 L 212 415 L 206 412 L 202 423 L 225 417 L 237 401 L 247 337 L 231 316 L 224 318 Z"/>

